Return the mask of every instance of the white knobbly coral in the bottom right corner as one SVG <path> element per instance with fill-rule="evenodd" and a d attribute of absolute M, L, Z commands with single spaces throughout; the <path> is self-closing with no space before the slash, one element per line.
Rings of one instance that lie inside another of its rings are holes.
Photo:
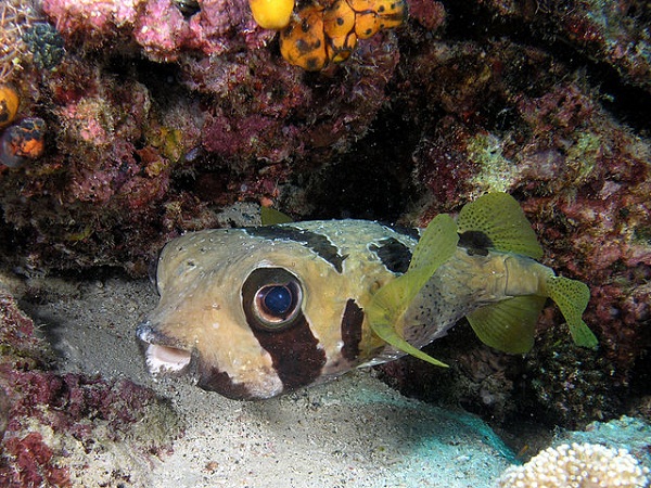
<path fill-rule="evenodd" d="M 523 466 L 509 467 L 500 488 L 643 488 L 649 470 L 626 449 L 597 444 L 563 444 L 538 453 Z"/>

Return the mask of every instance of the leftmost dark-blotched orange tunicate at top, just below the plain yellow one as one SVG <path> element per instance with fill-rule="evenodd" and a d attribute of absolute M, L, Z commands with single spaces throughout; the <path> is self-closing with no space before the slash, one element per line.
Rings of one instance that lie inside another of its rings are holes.
<path fill-rule="evenodd" d="M 323 9 L 317 5 L 298 11 L 297 20 L 280 31 L 280 52 L 290 64 L 308 72 L 322 69 L 329 61 L 323 31 Z"/>

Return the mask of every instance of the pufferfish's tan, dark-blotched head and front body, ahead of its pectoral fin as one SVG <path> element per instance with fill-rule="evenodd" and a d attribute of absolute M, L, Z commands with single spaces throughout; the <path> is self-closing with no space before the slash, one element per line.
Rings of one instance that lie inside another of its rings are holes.
<path fill-rule="evenodd" d="M 171 241 L 158 258 L 161 301 L 138 326 L 150 371 L 187 372 L 205 389 L 263 399 L 403 356 L 371 332 L 363 310 L 406 271 L 417 242 L 417 232 L 363 220 L 205 230 Z M 296 310 L 260 320 L 275 286 L 299 295 L 289 306 Z"/>

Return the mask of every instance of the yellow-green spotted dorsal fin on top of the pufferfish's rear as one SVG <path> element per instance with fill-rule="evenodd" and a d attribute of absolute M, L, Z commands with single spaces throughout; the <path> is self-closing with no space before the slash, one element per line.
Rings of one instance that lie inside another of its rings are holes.
<path fill-rule="evenodd" d="M 507 193 L 488 193 L 467 204 L 457 219 L 459 234 L 481 232 L 497 251 L 516 253 L 534 259 L 542 248 L 520 204 Z"/>

